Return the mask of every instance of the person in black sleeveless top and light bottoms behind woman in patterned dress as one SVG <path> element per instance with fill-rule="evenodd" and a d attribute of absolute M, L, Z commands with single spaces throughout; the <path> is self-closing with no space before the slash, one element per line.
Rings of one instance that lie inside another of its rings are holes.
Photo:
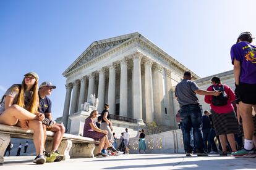
<path fill-rule="evenodd" d="M 104 104 L 104 110 L 101 113 L 101 124 L 100 124 L 100 129 L 103 131 L 108 131 L 108 140 L 111 144 L 114 144 L 114 137 L 112 134 L 113 127 L 112 123 L 109 120 L 110 115 L 109 115 L 109 104 L 105 103 Z"/>

